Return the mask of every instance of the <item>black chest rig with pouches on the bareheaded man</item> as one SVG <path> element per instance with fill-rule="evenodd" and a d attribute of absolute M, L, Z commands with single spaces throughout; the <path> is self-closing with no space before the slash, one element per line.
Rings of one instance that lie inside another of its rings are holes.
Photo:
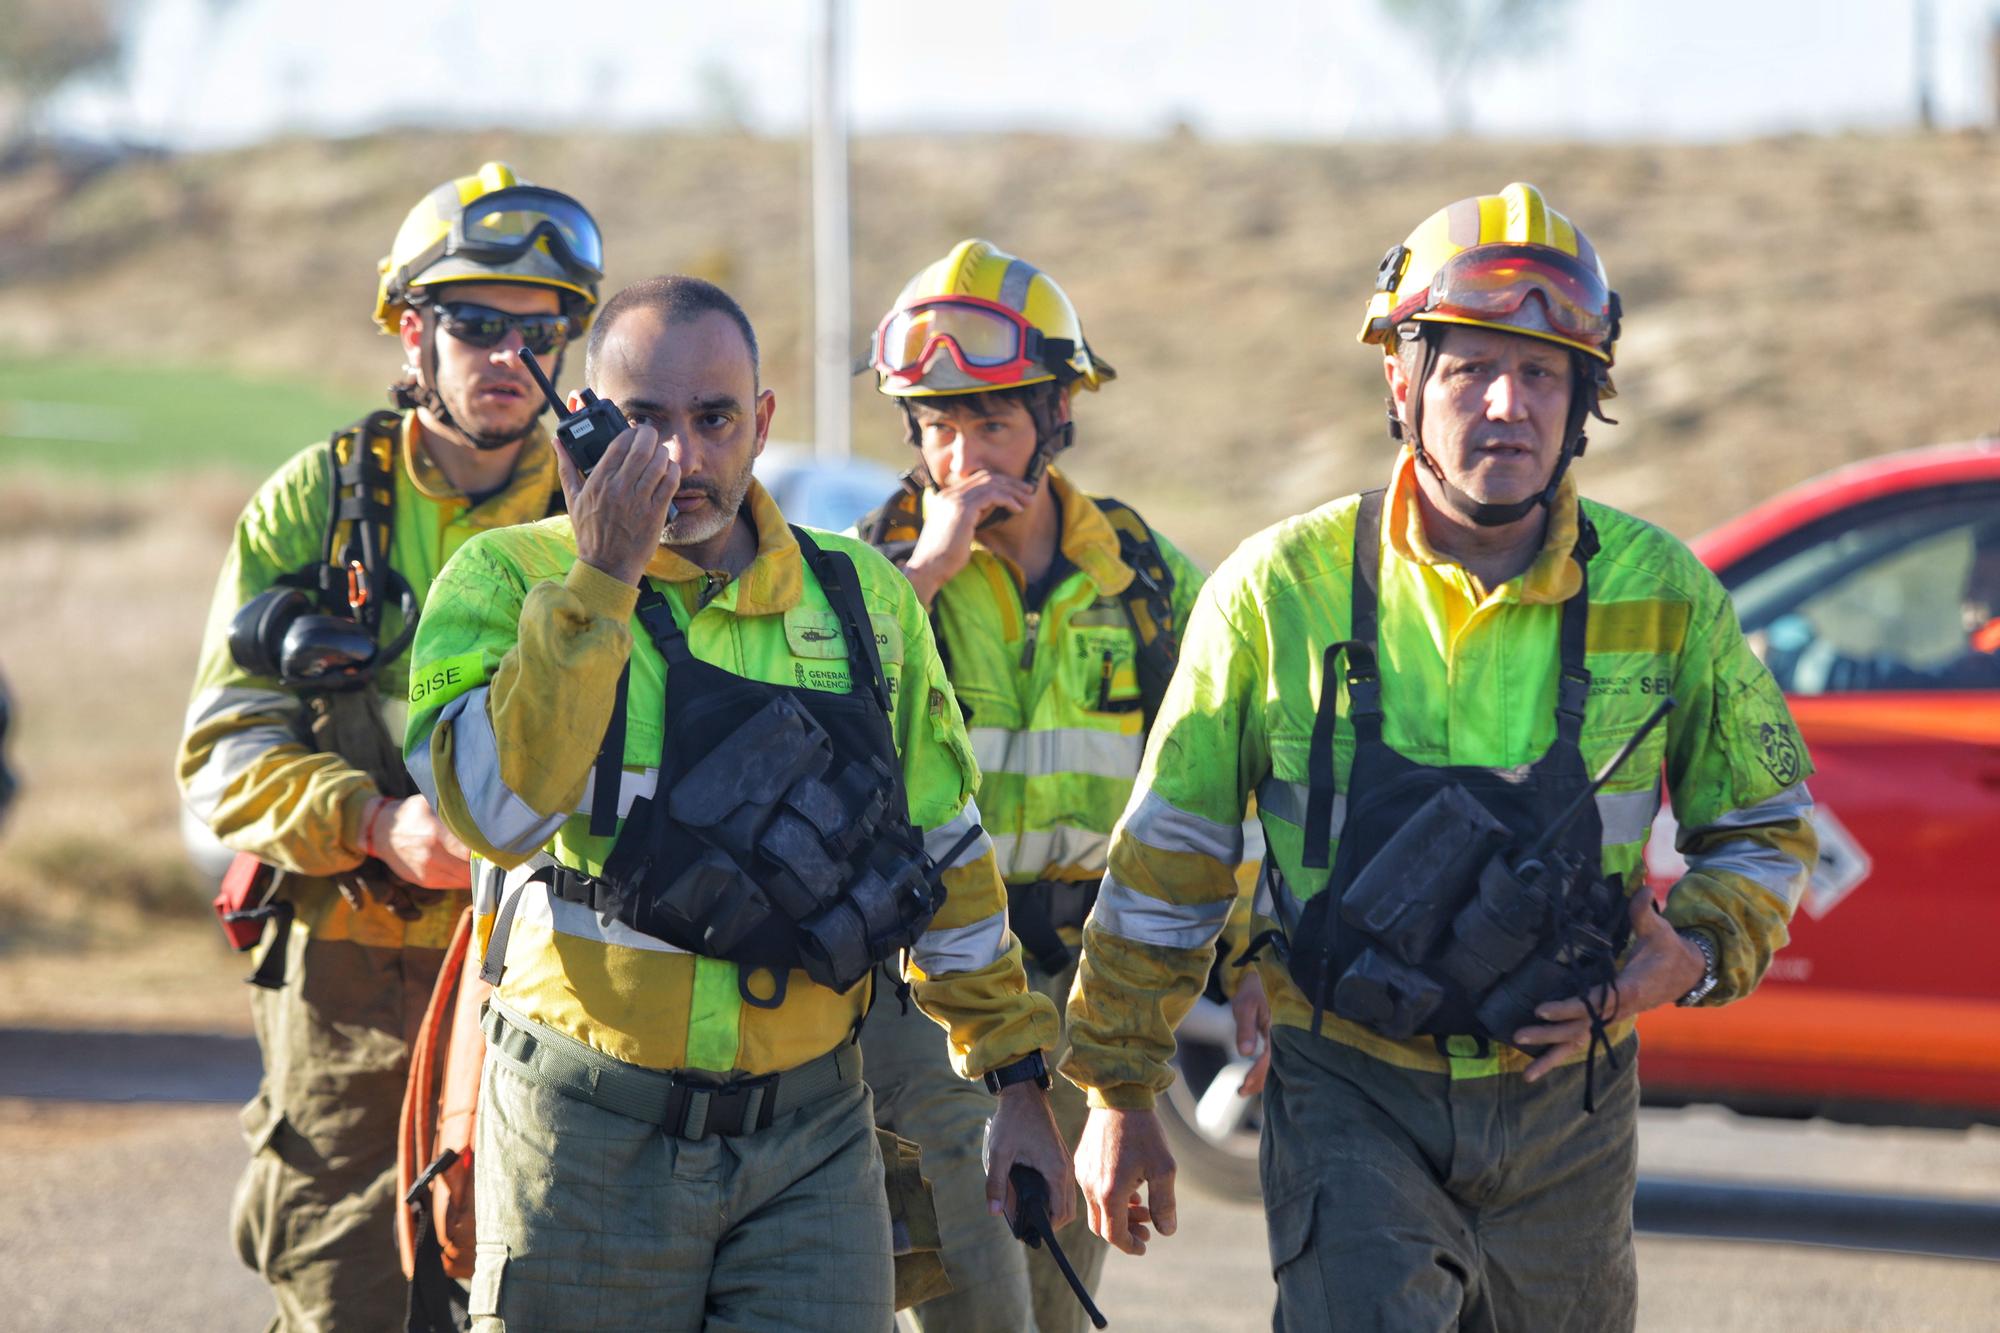
<path fill-rule="evenodd" d="M 542 867 L 566 901 L 668 945 L 736 963 L 744 1003 L 776 1009 L 786 979 L 848 991 L 874 965 L 910 949 L 944 903 L 938 865 L 910 825 L 890 691 L 854 560 L 792 528 L 840 616 L 850 691 L 768 685 L 694 656 L 650 582 L 638 620 L 666 658 L 666 717 L 652 797 L 618 819 L 630 666 L 598 755 L 590 831 L 618 843 L 602 875 Z M 520 895 L 494 923 L 482 975 L 498 983 Z M 758 995 L 756 973 L 772 993 Z"/>

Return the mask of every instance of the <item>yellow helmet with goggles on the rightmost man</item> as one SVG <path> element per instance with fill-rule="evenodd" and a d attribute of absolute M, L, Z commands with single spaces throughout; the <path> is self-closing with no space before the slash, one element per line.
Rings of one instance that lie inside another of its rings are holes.
<path fill-rule="evenodd" d="M 1424 218 L 1382 256 L 1360 340 L 1396 348 L 1406 322 L 1526 334 L 1612 364 L 1618 292 L 1604 262 L 1532 184 L 1462 198 Z M 1598 396 L 1610 376 L 1598 372 Z"/>

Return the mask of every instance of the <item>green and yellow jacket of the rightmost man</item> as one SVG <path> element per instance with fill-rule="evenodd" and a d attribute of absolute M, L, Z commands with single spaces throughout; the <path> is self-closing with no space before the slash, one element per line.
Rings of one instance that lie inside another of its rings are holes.
<path fill-rule="evenodd" d="M 1556 632 L 1580 582 L 1570 558 L 1576 482 L 1564 480 L 1534 564 L 1492 590 L 1430 548 L 1414 488 L 1406 450 L 1382 518 L 1384 741 L 1422 765 L 1532 763 L 1554 739 Z M 1220 853 L 1244 797 L 1258 797 L 1280 893 L 1304 903 L 1326 889 L 1330 871 L 1302 865 L 1304 811 L 1322 652 L 1348 636 L 1356 510 L 1350 496 L 1252 536 L 1194 608 L 1140 795 L 1112 841 L 1070 999 L 1064 1073 L 1098 1105 L 1148 1107 L 1170 1083 L 1172 1027 L 1230 909 L 1234 885 Z M 1786 941 L 1814 865 L 1804 787 L 1812 767 L 1714 574 L 1630 514 L 1594 502 L 1582 510 L 1600 540 L 1590 560 L 1584 763 L 1598 771 L 1662 695 L 1680 705 L 1598 797 L 1604 871 L 1640 891 L 1664 767 L 1688 861 L 1666 915 L 1718 947 L 1722 981 L 1706 1003 L 1720 1005 L 1748 995 Z M 1334 777 L 1346 793 L 1354 733 L 1344 683 L 1336 689 Z M 1336 843 L 1344 809 L 1336 799 Z M 1264 963 L 1262 973 L 1274 1021 L 1308 1027 L 1310 1007 L 1284 967 Z M 1614 1035 L 1626 1031 L 1628 1023 L 1614 1025 Z M 1326 1015 L 1324 1033 L 1456 1077 L 1528 1065 L 1512 1047 L 1446 1057 L 1428 1037 L 1388 1041 L 1336 1015 Z"/>

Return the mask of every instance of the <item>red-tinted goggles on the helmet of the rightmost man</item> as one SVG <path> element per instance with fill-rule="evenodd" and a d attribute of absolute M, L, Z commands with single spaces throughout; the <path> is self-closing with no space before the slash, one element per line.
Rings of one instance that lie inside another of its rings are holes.
<path fill-rule="evenodd" d="M 1540 310 L 1528 298 L 1540 296 Z M 1522 312 L 1528 318 L 1522 318 Z M 1480 324 L 1514 324 L 1608 352 L 1618 336 L 1618 296 L 1594 268 L 1548 246 L 1472 246 L 1446 260 L 1390 312 L 1390 324 L 1424 314 Z M 1536 318 L 1538 316 L 1538 318 Z"/>

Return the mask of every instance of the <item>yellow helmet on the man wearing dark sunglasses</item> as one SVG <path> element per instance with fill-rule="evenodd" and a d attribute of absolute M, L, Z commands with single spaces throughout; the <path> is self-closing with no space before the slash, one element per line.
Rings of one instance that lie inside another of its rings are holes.
<path fill-rule="evenodd" d="M 506 162 L 486 162 L 426 194 L 376 268 L 374 318 L 384 332 L 396 332 L 418 290 L 444 282 L 556 288 L 580 332 L 598 304 L 604 242 L 574 198 L 520 180 Z"/>

